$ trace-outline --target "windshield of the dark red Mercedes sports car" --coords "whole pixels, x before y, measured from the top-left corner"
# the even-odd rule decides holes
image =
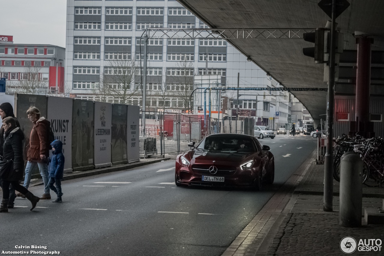
[[[255,143],[248,138],[207,137],[197,146],[198,150],[256,151]]]

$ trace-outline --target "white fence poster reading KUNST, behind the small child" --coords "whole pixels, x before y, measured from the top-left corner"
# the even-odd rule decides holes
[[[51,123],[55,140],[63,143],[64,173],[72,172],[72,107],[73,99],[71,98],[48,97],[46,118]]]

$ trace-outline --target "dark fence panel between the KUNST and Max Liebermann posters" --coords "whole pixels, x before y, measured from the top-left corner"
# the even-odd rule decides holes
[[[93,164],[93,118],[94,102],[73,101],[72,112],[72,167],[73,171],[94,169]]]

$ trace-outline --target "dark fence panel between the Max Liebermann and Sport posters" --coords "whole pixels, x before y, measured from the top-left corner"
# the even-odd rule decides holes
[[[112,106],[112,163],[126,164],[127,161],[127,105]]]

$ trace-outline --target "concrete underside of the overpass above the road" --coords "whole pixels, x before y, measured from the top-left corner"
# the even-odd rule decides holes
[[[317,28],[331,20],[318,7],[320,0],[177,0],[211,28]],[[351,4],[337,19],[344,33],[344,50],[356,50],[355,31],[374,38],[372,51],[384,50],[384,1],[348,0]],[[323,82],[324,64],[303,55],[302,48],[313,47],[303,39],[230,39],[230,43],[252,58],[260,68],[286,87],[327,88]],[[353,53],[353,52],[352,52]],[[353,54],[352,54],[353,55]],[[372,58],[374,53],[372,53]],[[356,57],[352,57],[356,58]],[[371,79],[371,96],[384,95],[384,72],[381,58],[376,80]],[[343,64],[341,63],[341,66]],[[356,66],[356,65],[355,65]],[[336,84],[338,95],[353,95],[354,64],[345,65],[347,73]],[[374,65],[372,65],[374,67]],[[342,72],[342,71],[340,71]],[[348,75],[347,75],[348,76]],[[355,76],[356,77],[356,76]],[[383,80],[382,80],[383,79]],[[293,92],[314,119],[326,114],[326,92]],[[314,97],[315,96],[315,97]],[[324,116],[323,116],[324,117]]]

